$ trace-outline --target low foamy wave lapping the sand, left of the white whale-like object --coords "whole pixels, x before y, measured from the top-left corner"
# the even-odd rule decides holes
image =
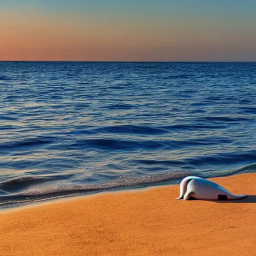
[[[71,196],[116,188],[139,187],[141,185],[148,185],[163,181],[180,180],[184,176],[190,174],[191,172],[178,171],[146,176],[123,176],[103,183],[65,185],[56,182],[52,185],[45,185],[45,182],[55,179],[52,177],[20,177],[0,182],[0,191],[3,191],[3,194],[0,196],[0,205],[4,206],[6,204],[33,202],[44,200],[46,198],[53,199],[58,198],[59,196]],[[44,185],[38,186],[41,183]],[[34,186],[34,184],[37,184],[37,186]],[[22,191],[19,192],[20,190]],[[12,193],[9,193],[9,191]]]

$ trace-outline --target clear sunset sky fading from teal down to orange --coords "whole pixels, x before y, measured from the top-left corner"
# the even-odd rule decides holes
[[[256,61],[256,0],[0,0],[0,60]]]

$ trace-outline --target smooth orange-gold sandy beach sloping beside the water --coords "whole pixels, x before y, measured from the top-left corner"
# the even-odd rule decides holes
[[[175,200],[174,185],[1,210],[0,255],[253,255],[256,173],[211,180],[251,196]]]

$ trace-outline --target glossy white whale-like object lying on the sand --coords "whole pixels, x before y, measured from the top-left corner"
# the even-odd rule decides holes
[[[247,197],[247,194],[236,195],[224,187],[204,178],[186,176],[180,182],[180,194],[176,199],[199,200],[235,200]]]

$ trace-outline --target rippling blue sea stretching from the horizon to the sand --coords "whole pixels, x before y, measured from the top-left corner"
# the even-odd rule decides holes
[[[0,205],[256,171],[256,63],[0,62]]]

